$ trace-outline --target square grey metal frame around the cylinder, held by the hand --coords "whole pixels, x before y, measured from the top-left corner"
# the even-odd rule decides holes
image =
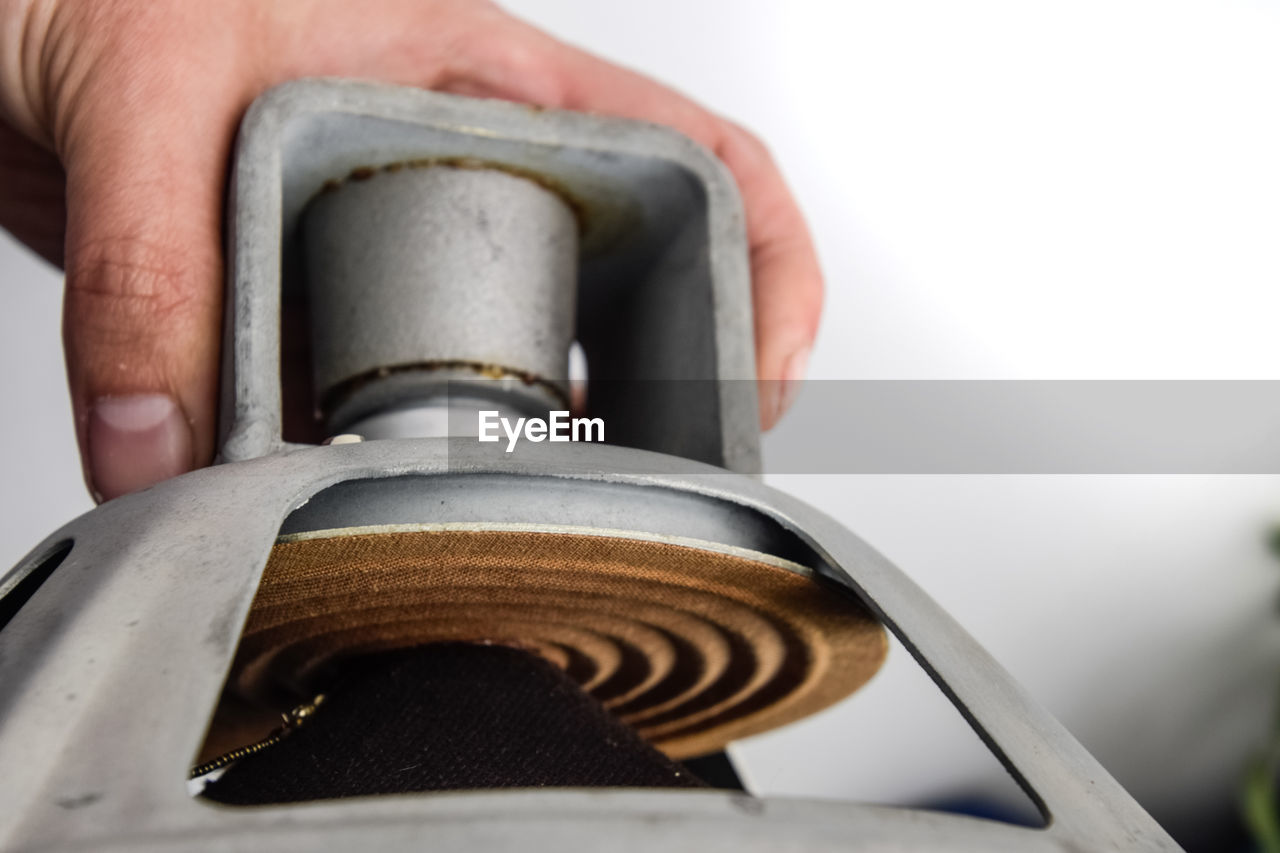
[[[593,414],[625,443],[759,471],[742,207],[709,151],[644,122],[406,87],[308,79],[250,109],[232,177],[223,461],[285,446],[282,302],[305,287],[298,216],[362,168],[468,159],[536,175],[582,224],[579,339]],[[696,380],[696,382],[685,382]],[[640,389],[641,393],[636,393]]]

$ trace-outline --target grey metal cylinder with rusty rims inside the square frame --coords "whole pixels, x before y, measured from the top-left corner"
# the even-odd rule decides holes
[[[302,240],[330,432],[467,379],[507,407],[564,407],[577,222],[554,192],[495,169],[357,170],[312,200]]]

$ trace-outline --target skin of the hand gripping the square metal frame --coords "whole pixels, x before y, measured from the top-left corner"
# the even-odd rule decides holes
[[[0,0],[0,225],[67,272],[63,339],[99,500],[207,464],[236,128],[264,90],[334,76],[667,124],[742,193],[765,428],[822,310],[804,219],[764,146],[485,0]]]

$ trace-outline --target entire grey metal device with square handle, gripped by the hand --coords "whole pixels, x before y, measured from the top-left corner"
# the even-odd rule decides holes
[[[241,131],[228,279],[220,464],[81,516],[0,581],[4,849],[1178,849],[901,571],[753,476],[742,214],[692,142],[636,122],[289,83]],[[306,306],[310,337],[282,332],[282,305]],[[507,453],[453,428],[484,406],[561,407],[575,336],[591,412],[618,425],[611,443]],[[282,392],[283,351],[308,351],[311,378]],[[596,389],[596,377],[620,384]],[[285,410],[315,410],[315,432],[343,438],[287,434]],[[612,537],[786,573],[895,633],[1047,826],[727,792],[255,808],[189,797],[276,543],[333,532]]]

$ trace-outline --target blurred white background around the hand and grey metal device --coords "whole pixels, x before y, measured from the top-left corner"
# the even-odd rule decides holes
[[[814,378],[1280,378],[1280,6],[518,0],[759,132],[828,277]],[[0,238],[0,565],[90,508],[56,273]],[[801,397],[800,405],[804,405]],[[1276,478],[791,476],[1184,838],[1280,680]],[[901,648],[735,756],[763,793],[1007,795]]]

